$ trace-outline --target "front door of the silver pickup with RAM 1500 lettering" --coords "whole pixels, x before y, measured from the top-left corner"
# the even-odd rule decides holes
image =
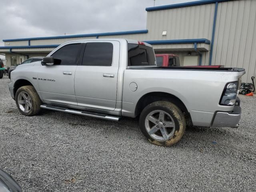
[[[81,43],[64,44],[51,54],[54,65],[40,66],[37,78],[43,100],[77,105],[74,77],[81,50]]]

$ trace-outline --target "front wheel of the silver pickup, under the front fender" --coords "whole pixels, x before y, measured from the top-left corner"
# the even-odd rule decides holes
[[[41,108],[41,100],[31,85],[18,88],[15,95],[16,106],[21,114],[26,116],[37,115]]]

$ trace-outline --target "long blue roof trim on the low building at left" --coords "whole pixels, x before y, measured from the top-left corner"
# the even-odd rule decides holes
[[[148,33],[148,30],[146,29],[146,30],[136,30],[136,31],[120,31],[120,32],[92,33],[92,34],[80,34],[80,35],[34,37],[34,38],[22,38],[22,39],[4,39],[3,42],[45,40],[45,39],[64,39],[64,38],[94,37],[94,36],[108,36],[108,35],[128,35],[128,34],[141,34],[141,33]]]

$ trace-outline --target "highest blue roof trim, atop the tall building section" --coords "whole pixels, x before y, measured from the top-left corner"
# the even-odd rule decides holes
[[[164,5],[164,6],[157,6],[157,7],[147,7],[146,11],[155,11],[155,10],[164,10],[164,9],[173,9],[179,7],[187,7],[187,6],[194,6],[194,5],[204,5],[209,3],[216,3],[216,2],[224,2],[230,0],[201,0],[201,1],[192,1],[186,3],[178,3],[172,5]]]

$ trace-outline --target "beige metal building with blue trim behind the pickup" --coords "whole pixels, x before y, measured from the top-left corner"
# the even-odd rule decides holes
[[[146,8],[146,30],[6,39],[0,47],[7,65],[46,56],[66,41],[131,38],[174,53],[181,65],[224,65],[246,69],[243,82],[256,75],[256,0],[201,0]]]

